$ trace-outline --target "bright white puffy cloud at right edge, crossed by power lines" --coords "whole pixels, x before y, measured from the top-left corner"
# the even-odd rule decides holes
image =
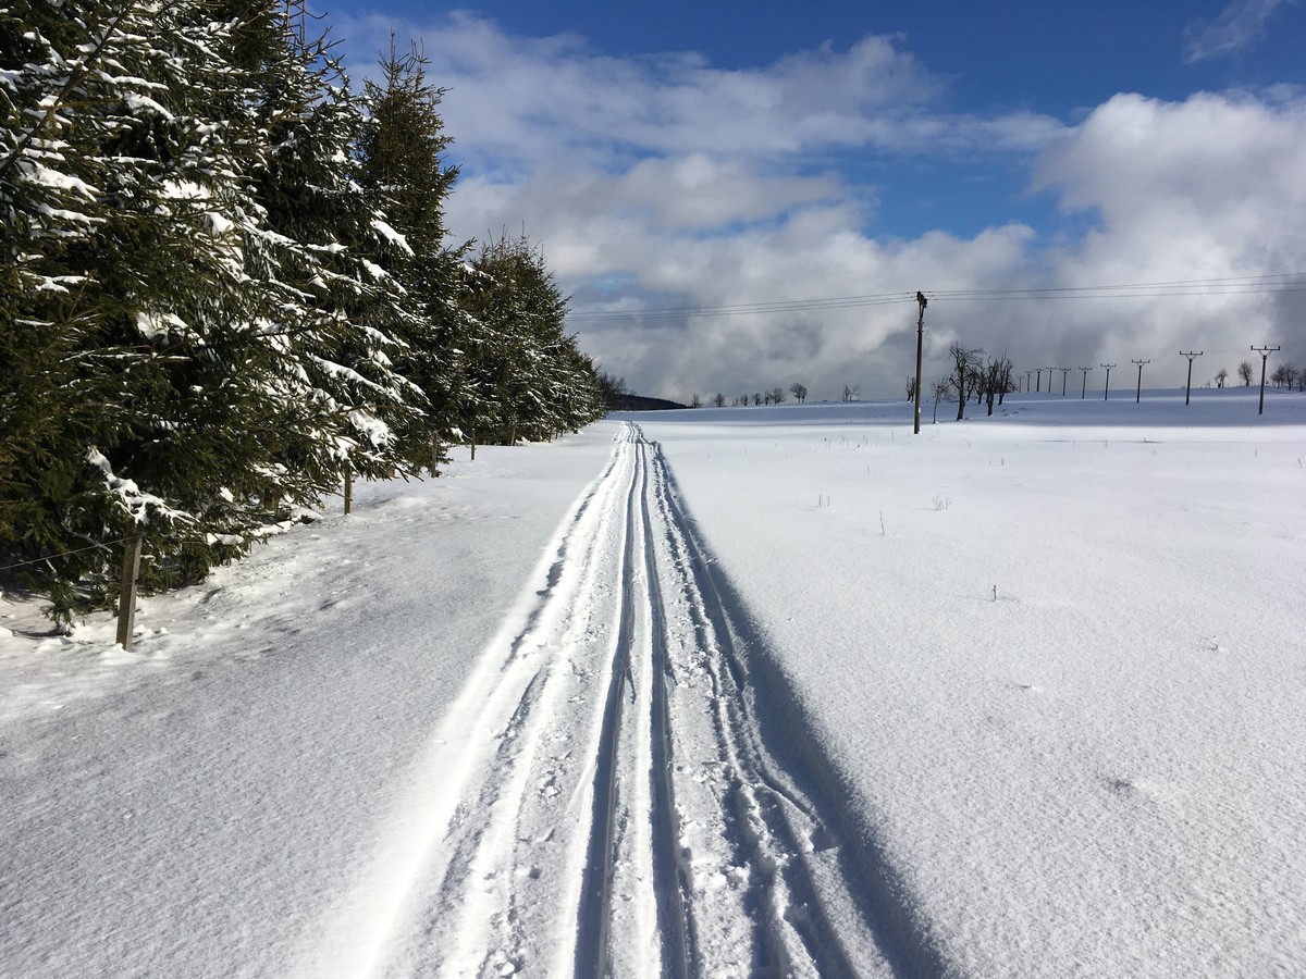
[[[1064,285],[1306,270],[1306,101],[1117,95],[1037,172],[1067,209],[1101,215],[1098,230],[1054,261]],[[1243,338],[1293,330],[1301,341],[1301,326],[1276,321],[1256,295],[1157,298],[1104,324],[1106,337],[1144,350],[1235,350]]]

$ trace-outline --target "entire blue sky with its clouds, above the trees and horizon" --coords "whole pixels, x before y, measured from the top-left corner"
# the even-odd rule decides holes
[[[1306,362],[1284,279],[963,298],[1306,270],[1303,4],[323,10],[355,76],[390,30],[422,42],[456,234],[541,241],[582,346],[636,390],[892,396],[914,303],[815,300],[917,288],[927,371],[952,341],[1017,367],[1151,356],[1158,385],[1182,382],[1181,349],[1209,349],[1205,376],[1250,343]]]

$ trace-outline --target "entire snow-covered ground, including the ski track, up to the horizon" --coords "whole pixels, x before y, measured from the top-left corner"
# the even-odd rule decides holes
[[[929,407],[482,449],[132,653],[0,602],[0,974],[1306,974],[1306,398]]]

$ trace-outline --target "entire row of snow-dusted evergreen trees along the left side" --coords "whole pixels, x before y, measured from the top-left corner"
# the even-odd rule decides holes
[[[453,245],[441,91],[281,0],[0,8],[0,564],[56,619],[202,578],[346,473],[602,412],[525,239]],[[296,27],[299,30],[296,30]]]

